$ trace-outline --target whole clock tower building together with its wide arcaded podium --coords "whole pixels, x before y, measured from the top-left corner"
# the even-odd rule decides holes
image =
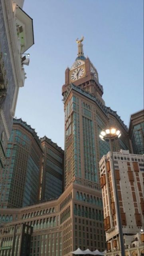
[[[99,139],[99,133],[114,125],[122,132],[120,140],[113,143],[114,151],[120,148],[128,150],[130,146],[124,122],[116,111],[105,106],[103,86],[99,83],[95,66],[83,54],[82,41],[83,38],[77,40],[78,56],[72,67],[66,69],[62,87],[65,112],[64,192],[58,199],[49,199],[41,204],[2,209],[2,218],[11,216],[11,222],[3,224],[0,231],[3,250],[6,250],[4,246],[9,238],[21,237],[20,230],[18,234],[10,233],[19,224],[32,227],[30,256],[72,256],[71,252],[78,247],[100,251],[106,248],[99,160],[107,154],[109,145]],[[41,140],[42,146],[46,147],[43,147],[46,162],[52,160],[47,151],[48,142],[45,137]],[[44,166],[46,170],[48,166],[43,162]],[[54,174],[53,170],[51,174]],[[45,171],[43,175],[45,177],[41,180],[47,177]],[[43,185],[41,198],[47,196],[47,188]],[[19,248],[20,255],[21,240],[13,246]],[[11,245],[8,250],[12,251]]]

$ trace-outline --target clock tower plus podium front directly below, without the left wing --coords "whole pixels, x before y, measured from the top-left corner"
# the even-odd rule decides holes
[[[109,145],[100,140],[99,134],[106,127],[118,128],[122,136],[113,144],[117,152],[120,148],[128,149],[129,142],[124,122],[116,111],[105,106],[98,72],[83,53],[83,39],[76,40],[77,58],[71,68],[65,70],[65,84],[62,87],[65,112],[63,195],[72,194],[72,250],[89,247],[92,251],[96,248],[104,251],[99,161],[109,151]],[[69,252],[69,249],[63,250],[64,255]]]

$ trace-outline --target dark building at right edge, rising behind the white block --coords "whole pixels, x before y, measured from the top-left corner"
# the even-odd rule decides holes
[[[144,154],[144,110],[130,116],[129,134],[134,154]]]

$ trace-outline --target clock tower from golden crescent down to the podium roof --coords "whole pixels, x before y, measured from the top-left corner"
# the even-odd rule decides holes
[[[82,38],[83,40],[83,38]],[[129,148],[128,130],[116,111],[105,106],[103,86],[95,66],[83,54],[77,40],[78,56],[65,71],[62,88],[65,111],[65,188],[71,182],[99,183],[99,160],[109,145],[99,139],[103,128],[115,126],[122,132],[114,143],[116,151]]]

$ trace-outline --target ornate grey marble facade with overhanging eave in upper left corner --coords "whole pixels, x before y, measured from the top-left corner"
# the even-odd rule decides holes
[[[22,54],[34,44],[32,19],[22,10],[23,2],[0,0],[0,170],[4,166],[18,91],[26,78]]]

